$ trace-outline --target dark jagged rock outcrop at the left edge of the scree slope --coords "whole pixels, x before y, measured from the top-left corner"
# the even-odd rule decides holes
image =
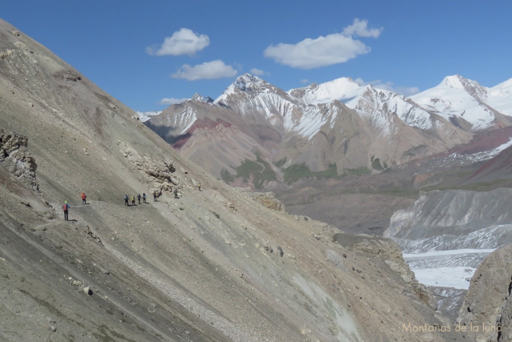
[[[26,136],[0,129],[0,163],[30,189],[39,191],[35,177],[37,164],[28,150]]]

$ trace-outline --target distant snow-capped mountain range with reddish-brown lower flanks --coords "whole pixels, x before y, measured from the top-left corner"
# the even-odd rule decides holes
[[[459,75],[407,98],[350,78],[284,91],[243,74],[217,99],[196,94],[145,124],[216,177],[275,189],[447,152],[510,126],[511,94],[512,79],[485,88]]]

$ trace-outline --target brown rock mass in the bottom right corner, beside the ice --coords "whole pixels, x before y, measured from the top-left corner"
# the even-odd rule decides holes
[[[512,340],[512,245],[487,256],[471,279],[458,323],[474,341]]]

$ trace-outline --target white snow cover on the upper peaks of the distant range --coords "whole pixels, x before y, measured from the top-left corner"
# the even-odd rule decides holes
[[[512,78],[493,88],[485,88],[460,75],[447,76],[438,86],[407,98],[389,90],[359,86],[348,77],[285,92],[245,73],[215,100],[197,93],[190,100],[232,106],[242,116],[247,112],[259,112],[265,119],[272,120],[274,126],[284,120],[287,132],[297,132],[308,138],[312,138],[312,132],[318,132],[326,120],[318,105],[334,100],[356,110],[361,117],[369,119],[373,127],[386,134],[393,132],[389,115],[396,115],[406,125],[420,130],[442,129],[444,124],[432,113],[446,120],[458,116],[470,123],[473,130],[479,130],[494,124],[496,112],[512,116]],[[311,105],[318,110],[316,117],[308,107]],[[289,117],[302,111],[308,112],[304,119]],[[137,112],[143,122],[159,113]],[[317,129],[305,129],[306,126]]]

